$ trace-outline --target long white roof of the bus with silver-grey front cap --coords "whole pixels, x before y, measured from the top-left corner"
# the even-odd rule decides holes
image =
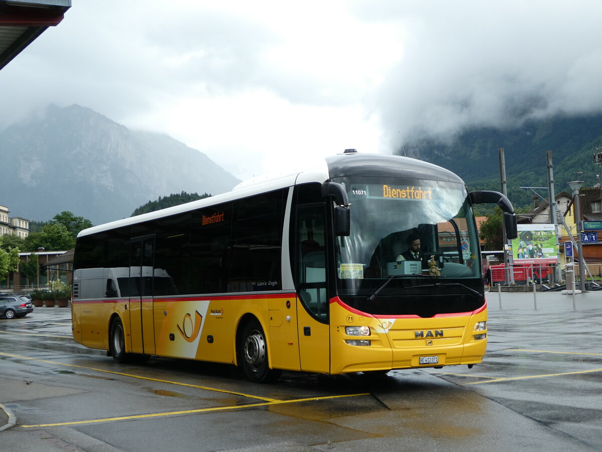
[[[440,180],[464,184],[461,178],[441,166],[422,160],[402,157],[400,155],[364,154],[359,152],[344,152],[332,155],[325,160],[310,162],[305,169],[294,169],[274,174],[267,174],[243,181],[231,192],[187,202],[179,206],[143,213],[142,215],[120,219],[110,223],[93,226],[82,230],[78,237],[95,234],[123,226],[150,221],[178,213],[202,209],[234,199],[246,198],[259,193],[270,192],[285,187],[308,182],[324,183],[330,178],[342,176],[374,176],[374,177],[403,177],[423,178],[427,174],[431,180]]]

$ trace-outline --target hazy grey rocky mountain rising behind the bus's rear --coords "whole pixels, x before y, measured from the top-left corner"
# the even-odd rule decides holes
[[[240,181],[165,135],[132,131],[90,108],[48,107],[0,132],[0,204],[46,221],[69,210],[93,224],[169,193],[227,192]]]

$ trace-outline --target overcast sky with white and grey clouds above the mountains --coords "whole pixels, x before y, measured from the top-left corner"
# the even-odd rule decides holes
[[[239,178],[412,135],[602,110],[602,2],[72,0],[0,71],[46,104],[167,133]]]

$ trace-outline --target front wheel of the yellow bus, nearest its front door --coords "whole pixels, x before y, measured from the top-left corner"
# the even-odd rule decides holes
[[[244,375],[255,383],[270,383],[278,380],[282,373],[270,369],[267,357],[267,343],[261,324],[253,320],[244,325],[238,356]]]

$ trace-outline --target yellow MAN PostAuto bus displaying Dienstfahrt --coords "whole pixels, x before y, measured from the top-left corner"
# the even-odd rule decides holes
[[[88,228],[75,246],[73,337],[117,362],[231,363],[256,382],[283,370],[471,367],[487,337],[472,207],[482,202],[497,203],[516,234],[501,193],[348,149]]]

